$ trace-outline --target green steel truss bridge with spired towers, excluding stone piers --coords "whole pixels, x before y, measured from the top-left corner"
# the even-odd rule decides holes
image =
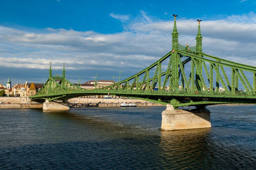
[[[172,104],[175,108],[256,103],[256,67],[202,52],[200,20],[195,46],[180,45],[178,37],[174,17],[172,50],[139,73],[104,88],[86,90],[74,85],[65,78],[65,66],[62,76],[52,76],[50,64],[44,87],[30,98],[67,101],[79,96],[111,95]]]

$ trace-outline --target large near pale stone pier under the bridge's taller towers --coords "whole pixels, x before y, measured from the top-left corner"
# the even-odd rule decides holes
[[[196,110],[175,110],[171,104],[162,112],[162,131],[198,129],[211,127],[210,111],[204,108]]]

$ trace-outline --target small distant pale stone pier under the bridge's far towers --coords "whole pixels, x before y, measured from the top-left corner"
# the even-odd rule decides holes
[[[54,111],[54,110],[69,110],[68,102],[54,102],[45,101],[43,110],[44,111]]]

